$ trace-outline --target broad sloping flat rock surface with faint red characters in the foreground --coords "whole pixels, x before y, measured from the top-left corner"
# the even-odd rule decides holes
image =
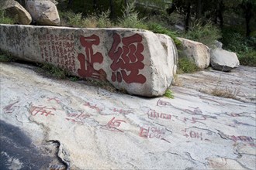
[[[0,66],[1,169],[256,169],[254,100],[200,92],[201,73],[180,76],[185,87],[171,87],[175,99],[168,99],[54,80],[24,64]],[[255,94],[255,68],[240,68],[221,73],[222,83],[245,73],[237,87]],[[213,72],[202,73],[215,79]]]

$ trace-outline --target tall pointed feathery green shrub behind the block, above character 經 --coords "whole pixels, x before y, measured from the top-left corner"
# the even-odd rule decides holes
[[[135,10],[135,2],[126,5],[123,17],[118,19],[117,25],[124,28],[147,29],[144,19],[139,19],[139,13]]]

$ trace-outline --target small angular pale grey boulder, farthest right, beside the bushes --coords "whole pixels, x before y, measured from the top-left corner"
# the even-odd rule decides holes
[[[210,63],[214,70],[221,71],[230,71],[240,65],[237,54],[224,49],[212,49]]]

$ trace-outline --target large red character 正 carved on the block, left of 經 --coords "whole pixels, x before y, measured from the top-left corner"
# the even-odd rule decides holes
[[[99,36],[80,36],[81,46],[85,47],[85,54],[79,53],[78,60],[80,62],[80,68],[78,69],[78,75],[82,77],[92,77],[96,79],[105,79],[106,73],[104,70],[95,70],[93,68],[94,63],[102,63],[103,56],[101,53],[93,53],[92,46],[99,45]]]

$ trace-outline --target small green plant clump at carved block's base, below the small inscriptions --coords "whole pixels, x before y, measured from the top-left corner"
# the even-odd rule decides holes
[[[43,70],[43,72],[47,74],[47,76],[52,76],[57,79],[64,79],[68,75],[68,73],[65,70],[57,66],[54,66],[50,63],[44,63],[40,65],[40,67]]]

